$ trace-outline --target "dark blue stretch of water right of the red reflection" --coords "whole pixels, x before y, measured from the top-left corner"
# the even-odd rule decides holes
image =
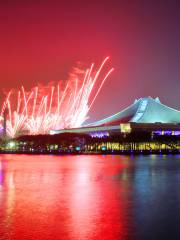
[[[135,170],[132,201],[137,239],[180,239],[179,156],[146,156],[136,161]]]

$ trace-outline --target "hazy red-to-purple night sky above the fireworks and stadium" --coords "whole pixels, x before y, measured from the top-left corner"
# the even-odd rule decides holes
[[[0,83],[30,88],[66,79],[77,61],[111,57],[115,71],[90,113],[99,119],[135,98],[180,109],[178,1],[1,1]]]

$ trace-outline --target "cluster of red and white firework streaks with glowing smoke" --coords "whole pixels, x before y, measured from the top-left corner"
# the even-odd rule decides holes
[[[103,84],[113,71],[111,68],[103,74],[108,59],[105,58],[96,71],[94,64],[86,71],[74,69],[68,81],[60,81],[57,85],[37,86],[30,92],[25,91],[24,87],[17,93],[10,91],[2,105],[1,126],[5,111],[6,130],[10,137],[46,134],[51,129],[82,126]]]

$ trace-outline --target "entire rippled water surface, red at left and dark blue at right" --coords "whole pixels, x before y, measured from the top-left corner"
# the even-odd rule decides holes
[[[0,240],[180,239],[180,155],[0,155]]]

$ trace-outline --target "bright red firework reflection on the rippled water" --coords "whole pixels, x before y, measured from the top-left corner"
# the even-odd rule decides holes
[[[1,236],[14,240],[128,236],[125,159],[8,155],[0,163]]]

